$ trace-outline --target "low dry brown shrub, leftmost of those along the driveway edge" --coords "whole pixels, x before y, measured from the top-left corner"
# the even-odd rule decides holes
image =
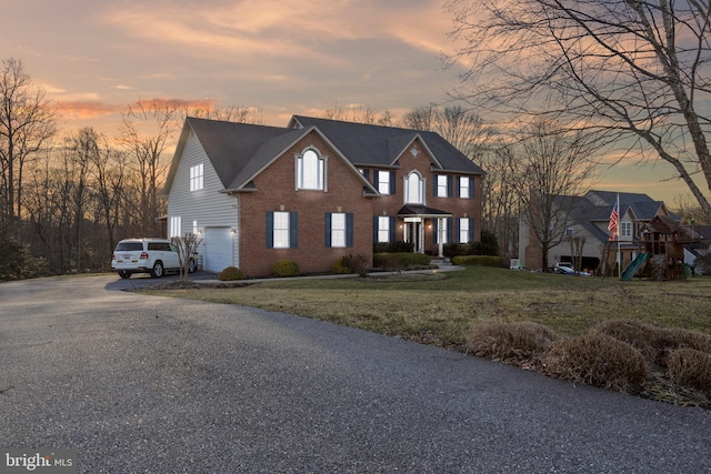
[[[542,324],[489,322],[473,329],[467,349],[480,357],[522,364],[541,355],[557,340],[558,334]]]

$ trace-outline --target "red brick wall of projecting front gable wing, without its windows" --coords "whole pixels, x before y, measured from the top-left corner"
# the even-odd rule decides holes
[[[327,191],[296,190],[294,155],[313,147],[328,157]],[[372,265],[372,202],[363,198],[363,183],[343,159],[316,132],[300,140],[254,179],[256,192],[240,193],[242,270],[268,275],[279,259],[291,259],[303,273],[328,272],[344,255],[365,255]],[[267,212],[297,212],[297,249],[268,249]],[[353,213],[353,246],[331,249],[324,245],[327,212]]]

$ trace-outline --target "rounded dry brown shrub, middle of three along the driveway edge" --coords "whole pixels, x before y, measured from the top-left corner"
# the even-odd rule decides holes
[[[554,377],[620,392],[641,386],[649,376],[637,349],[602,333],[554,342],[541,362]]]

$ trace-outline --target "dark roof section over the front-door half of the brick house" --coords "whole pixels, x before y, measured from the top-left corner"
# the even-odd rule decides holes
[[[397,164],[394,160],[419,138],[433,157],[434,169],[465,174],[484,174],[481,168],[434,132],[302,115],[294,115],[289,127],[293,129],[317,127],[356,167],[392,167]]]

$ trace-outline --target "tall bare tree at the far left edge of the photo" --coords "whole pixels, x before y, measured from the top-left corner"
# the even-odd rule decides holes
[[[20,229],[26,164],[57,132],[56,113],[22,61],[2,61],[0,71],[0,223]]]

